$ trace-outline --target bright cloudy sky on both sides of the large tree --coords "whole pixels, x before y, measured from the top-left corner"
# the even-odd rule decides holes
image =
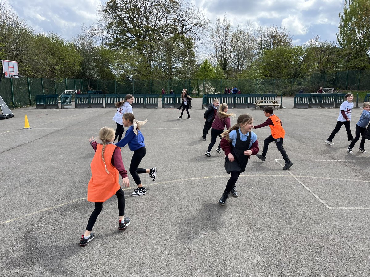
[[[54,32],[70,39],[81,25],[96,22],[96,11],[105,0],[8,0],[19,17],[36,32]],[[258,25],[278,25],[303,44],[316,35],[336,41],[339,13],[344,0],[192,0],[211,21],[226,14],[233,24],[246,21]]]

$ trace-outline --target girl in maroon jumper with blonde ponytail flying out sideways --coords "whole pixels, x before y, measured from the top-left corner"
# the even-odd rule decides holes
[[[230,129],[230,117],[234,117],[235,113],[226,113],[228,111],[228,104],[222,103],[218,112],[216,113],[215,120],[212,123],[211,129],[211,142],[208,145],[208,149],[205,153],[206,156],[211,157],[211,149],[216,143],[216,139],[219,136],[221,139],[221,134],[223,129]],[[221,154],[221,144],[218,144],[216,152]]]

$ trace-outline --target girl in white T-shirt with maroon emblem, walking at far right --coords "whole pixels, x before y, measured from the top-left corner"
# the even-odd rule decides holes
[[[342,105],[340,105],[340,112],[339,112],[339,116],[337,119],[337,124],[334,130],[332,131],[332,133],[330,134],[330,136],[325,141],[326,144],[334,145],[333,138],[335,134],[339,132],[342,125],[346,127],[348,141],[353,140],[353,136],[352,136],[351,129],[350,129],[351,110],[353,109],[353,103],[352,103],[353,95],[352,93],[347,93],[344,96],[344,98],[346,99],[346,101],[344,101]]]

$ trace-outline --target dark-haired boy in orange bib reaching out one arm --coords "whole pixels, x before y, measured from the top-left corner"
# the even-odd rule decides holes
[[[265,140],[263,141],[263,150],[262,155],[257,154],[256,157],[258,157],[260,160],[265,161],[266,160],[266,154],[267,150],[269,148],[269,143],[275,141],[277,150],[280,151],[280,153],[283,156],[283,159],[285,161],[285,165],[283,167],[283,170],[288,170],[292,165],[292,161],[289,160],[288,155],[285,152],[285,149],[283,148],[283,138],[285,136],[285,131],[282,126],[282,122],[280,121],[279,117],[277,117],[274,114],[274,109],[272,106],[267,106],[263,108],[263,113],[266,117],[268,117],[268,120],[266,120],[264,123],[259,124],[257,126],[254,126],[254,129],[262,128],[265,126],[270,126],[271,134]]]

